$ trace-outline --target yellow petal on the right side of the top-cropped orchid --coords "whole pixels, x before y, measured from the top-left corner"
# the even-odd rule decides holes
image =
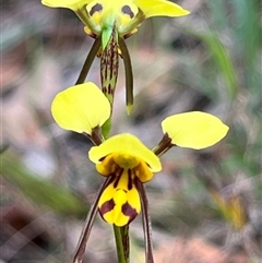
[[[180,5],[166,0],[134,0],[133,3],[143,11],[146,17],[182,16],[190,13]]]

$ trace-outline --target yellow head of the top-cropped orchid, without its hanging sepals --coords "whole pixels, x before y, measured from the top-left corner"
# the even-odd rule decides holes
[[[86,25],[88,35],[105,35],[104,47],[115,24],[119,36],[127,37],[135,33],[145,19],[189,14],[180,5],[166,0],[41,0],[41,3],[50,8],[73,10]]]

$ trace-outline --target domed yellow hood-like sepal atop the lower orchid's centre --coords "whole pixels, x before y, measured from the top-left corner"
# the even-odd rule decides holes
[[[148,169],[153,172],[157,172],[162,169],[159,158],[138,138],[129,133],[111,136],[99,146],[93,146],[88,155],[93,163],[99,164],[103,157],[112,153],[142,159],[148,165]]]

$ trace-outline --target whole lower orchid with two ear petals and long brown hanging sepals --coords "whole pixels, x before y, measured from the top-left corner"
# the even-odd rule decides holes
[[[105,222],[116,226],[127,226],[142,211],[146,256],[153,259],[148,205],[143,184],[162,170],[159,156],[169,148],[201,150],[212,146],[227,134],[228,127],[215,116],[192,111],[167,117],[162,122],[164,136],[153,150],[130,133],[105,140],[100,127],[110,116],[110,104],[93,83],[75,85],[59,93],[52,101],[51,112],[61,128],[84,133],[94,142],[88,157],[98,174],[106,177],[90,211],[74,262],[82,262],[97,211]]]

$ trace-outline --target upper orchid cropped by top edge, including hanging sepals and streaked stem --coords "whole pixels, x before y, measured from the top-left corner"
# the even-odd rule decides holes
[[[85,25],[85,33],[95,38],[76,84],[85,81],[98,55],[102,58],[103,92],[111,105],[118,75],[118,55],[121,55],[126,72],[128,113],[133,105],[133,73],[124,39],[133,35],[144,20],[152,16],[176,17],[189,14],[189,11],[167,0],[41,0],[41,3],[50,8],[71,9]]]

